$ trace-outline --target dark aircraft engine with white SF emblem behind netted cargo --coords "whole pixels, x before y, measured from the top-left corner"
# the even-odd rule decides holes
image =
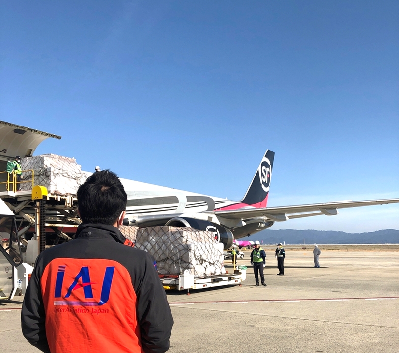
[[[223,247],[225,250],[231,248],[233,245],[233,233],[225,227],[209,221],[203,221],[188,217],[175,217],[169,220],[165,224],[165,226],[186,227],[197,230],[210,231],[213,232],[217,241],[223,243]]]

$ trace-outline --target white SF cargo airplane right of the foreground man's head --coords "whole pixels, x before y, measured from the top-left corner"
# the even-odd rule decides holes
[[[234,239],[267,229],[275,222],[316,215],[332,216],[338,209],[398,203],[399,199],[342,201],[267,207],[274,152],[267,150],[244,198],[232,201],[139,181],[120,179],[128,201],[123,224],[140,228],[187,227],[213,232],[224,249]]]

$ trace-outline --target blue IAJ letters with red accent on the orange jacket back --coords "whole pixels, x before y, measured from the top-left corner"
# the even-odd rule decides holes
[[[66,266],[58,266],[57,279],[56,279],[56,289],[54,293],[55,298],[61,298],[62,296],[62,286],[64,282]],[[54,301],[54,305],[82,305],[82,306],[99,306],[104,305],[110,299],[110,291],[112,279],[114,277],[115,267],[107,267],[105,269],[105,274],[103,278],[103,284],[101,288],[101,295],[99,302],[77,302],[77,301]],[[93,299],[93,290],[91,288],[92,284],[98,284],[95,282],[91,282],[90,274],[88,271],[88,266],[84,266],[80,269],[79,273],[76,275],[74,281],[69,286],[64,299],[69,298],[72,291],[79,290],[83,288],[83,293],[85,295],[85,299]]]

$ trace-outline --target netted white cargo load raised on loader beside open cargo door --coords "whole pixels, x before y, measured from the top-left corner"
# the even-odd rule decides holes
[[[22,158],[22,170],[34,171],[34,185],[44,186],[52,194],[75,195],[78,187],[83,184],[87,174],[82,173],[81,165],[75,158],[63,157],[57,154],[42,154]],[[23,180],[31,180],[32,173],[24,172]],[[31,190],[30,183],[21,184],[21,191]]]

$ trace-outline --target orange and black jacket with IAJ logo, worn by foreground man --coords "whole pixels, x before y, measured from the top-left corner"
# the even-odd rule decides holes
[[[42,252],[22,306],[22,332],[43,352],[166,352],[171,310],[154,258],[113,226],[81,224]]]

